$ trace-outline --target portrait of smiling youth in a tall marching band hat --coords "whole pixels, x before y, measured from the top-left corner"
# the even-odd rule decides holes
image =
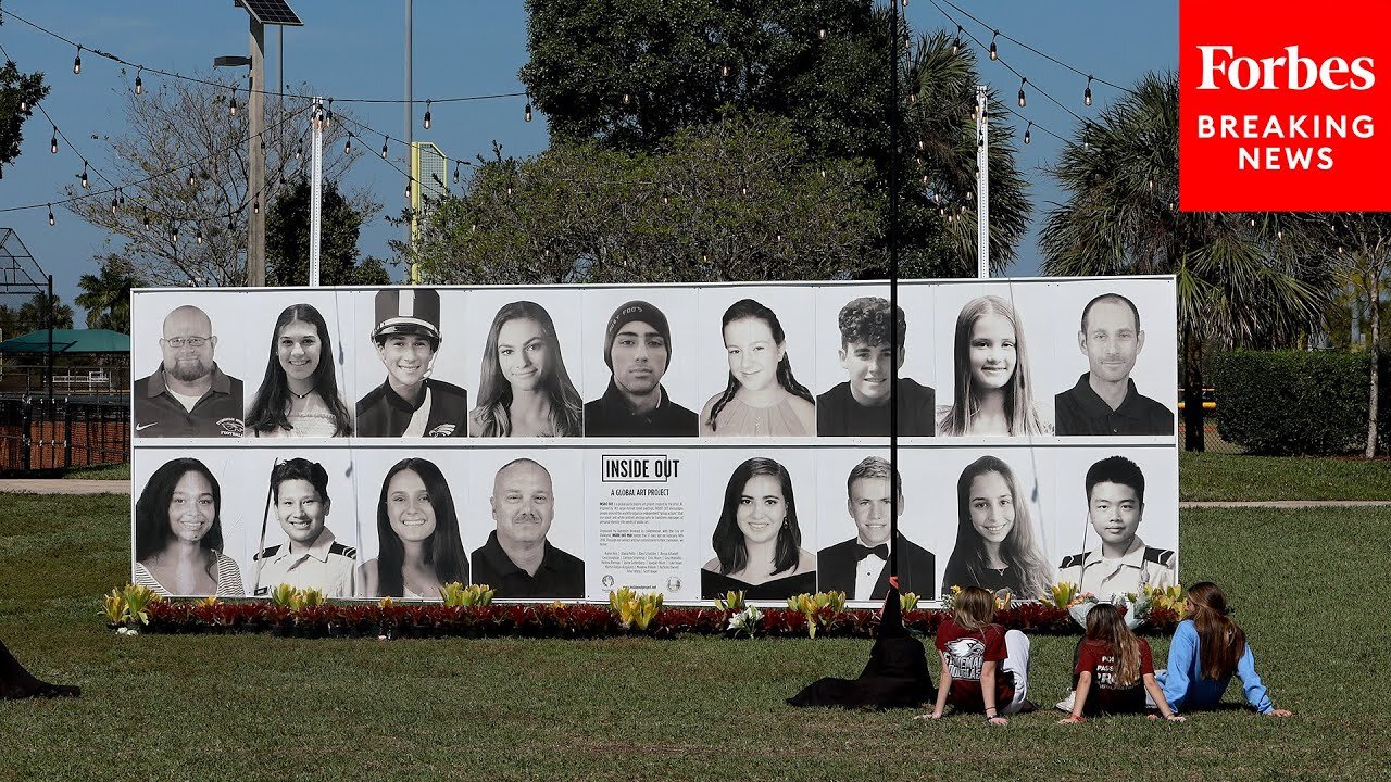
[[[371,341],[387,380],[357,399],[362,437],[465,437],[469,394],[430,377],[440,351],[440,292],[377,291]]]

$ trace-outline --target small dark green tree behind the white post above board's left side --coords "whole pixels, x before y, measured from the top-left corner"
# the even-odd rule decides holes
[[[309,179],[299,177],[277,193],[266,216],[266,284],[309,284]],[[363,221],[380,205],[366,198],[352,203],[327,181],[320,203],[319,281],[321,285],[389,285],[391,274],[381,260],[357,263],[357,235]]]

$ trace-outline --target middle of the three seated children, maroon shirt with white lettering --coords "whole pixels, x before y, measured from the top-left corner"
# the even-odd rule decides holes
[[[1072,712],[1059,722],[1068,725],[1097,714],[1143,714],[1145,693],[1170,722],[1182,722],[1164,700],[1155,680],[1155,660],[1145,639],[1136,637],[1118,608],[1102,603],[1086,615],[1086,640],[1079,648],[1077,697]]]

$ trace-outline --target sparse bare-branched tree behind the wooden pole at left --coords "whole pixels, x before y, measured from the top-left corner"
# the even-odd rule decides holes
[[[246,111],[231,115],[235,82],[220,83],[224,86],[164,79],[159,89],[129,93],[124,109],[129,131],[103,138],[111,160],[102,171],[111,182],[97,179],[93,186],[129,185],[118,195],[68,205],[88,223],[124,239],[110,255],[150,284],[245,284],[248,213],[266,207],[284,182],[303,177],[309,168],[307,102],[287,97],[281,103],[267,96],[262,135],[266,192],[248,192]],[[238,100],[246,103],[245,88]],[[338,114],[339,121],[324,134],[324,177],[330,179],[339,178],[362,154],[344,154],[348,122]],[[88,193],[70,186],[68,195]]]

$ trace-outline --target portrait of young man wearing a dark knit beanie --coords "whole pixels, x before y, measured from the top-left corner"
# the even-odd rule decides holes
[[[672,402],[662,376],[672,360],[666,314],[632,301],[609,317],[604,363],[612,372],[604,395],[584,405],[587,437],[696,437],[698,416]]]

